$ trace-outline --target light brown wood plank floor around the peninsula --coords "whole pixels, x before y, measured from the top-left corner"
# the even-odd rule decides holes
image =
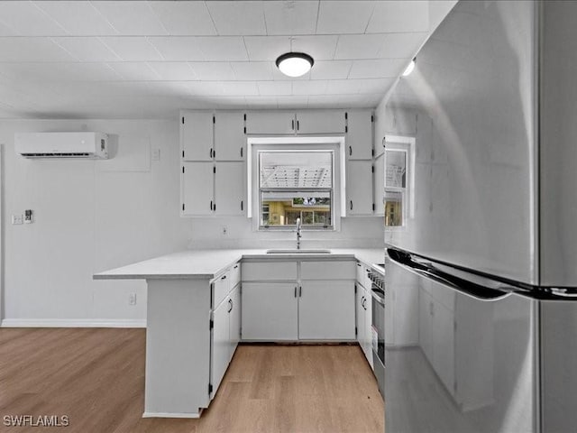
[[[357,345],[240,345],[200,419],[142,419],[143,329],[0,329],[0,431],[382,433],[384,404]],[[5,415],[68,415],[7,428]]]

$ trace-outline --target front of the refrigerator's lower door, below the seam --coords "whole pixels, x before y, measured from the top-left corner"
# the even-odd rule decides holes
[[[386,267],[387,433],[536,432],[537,301],[418,263]],[[446,269],[445,269],[446,271]],[[462,275],[461,275],[462,277]]]

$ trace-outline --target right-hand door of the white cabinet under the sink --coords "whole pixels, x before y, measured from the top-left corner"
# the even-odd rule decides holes
[[[302,281],[299,340],[354,340],[353,281]]]

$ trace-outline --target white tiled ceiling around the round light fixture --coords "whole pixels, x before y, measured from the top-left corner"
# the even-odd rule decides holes
[[[454,3],[3,1],[0,118],[376,106]]]

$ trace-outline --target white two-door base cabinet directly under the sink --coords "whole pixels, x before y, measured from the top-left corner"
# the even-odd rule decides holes
[[[350,260],[243,263],[243,340],[354,340],[354,278]]]

